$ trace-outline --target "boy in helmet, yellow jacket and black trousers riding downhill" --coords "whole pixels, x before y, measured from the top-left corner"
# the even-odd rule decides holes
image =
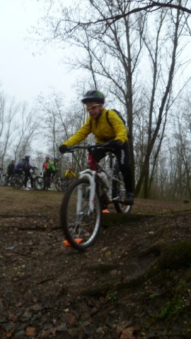
[[[117,157],[117,162],[120,167],[120,172],[124,178],[127,205],[133,205],[134,194],[132,188],[132,172],[129,164],[129,147],[127,128],[122,119],[117,115],[117,112],[110,109],[110,122],[108,122],[108,109],[103,105],[105,97],[98,90],[88,90],[85,97],[81,100],[86,105],[86,110],[89,113],[85,124],[81,126],[79,131],[76,131],[73,136],[64,141],[59,146],[59,151],[65,153],[68,146],[81,143],[88,134],[93,133],[96,137],[96,143],[107,144],[113,148],[113,153]],[[97,162],[105,157],[107,149],[94,150],[93,156]]]

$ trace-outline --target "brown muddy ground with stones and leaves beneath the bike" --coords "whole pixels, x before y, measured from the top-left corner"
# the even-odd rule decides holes
[[[191,338],[191,205],[136,199],[64,246],[62,194],[0,187],[0,338]]]

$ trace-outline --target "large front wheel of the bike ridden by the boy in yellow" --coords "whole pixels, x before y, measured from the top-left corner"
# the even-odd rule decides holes
[[[93,245],[100,233],[102,214],[100,198],[96,192],[91,211],[90,191],[88,180],[76,180],[68,187],[60,206],[60,224],[66,240],[69,245],[79,250]]]

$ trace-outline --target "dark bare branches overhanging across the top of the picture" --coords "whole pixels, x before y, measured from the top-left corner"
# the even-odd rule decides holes
[[[58,8],[58,2],[57,0],[50,0],[48,1],[49,4],[46,5],[47,13],[49,14],[53,8]],[[110,27],[110,25],[113,25],[117,21],[121,20],[122,18],[133,16],[136,13],[153,13],[154,11],[160,11],[161,8],[166,8],[168,11],[172,9],[176,9],[180,12],[182,12],[185,16],[189,16],[191,14],[191,8],[189,6],[190,0],[129,0],[125,1],[128,2],[129,6],[127,6],[125,12],[112,12],[112,13],[105,13],[103,16],[103,13],[105,11],[105,6],[103,5],[103,11],[98,13],[93,13],[92,18],[84,18],[82,16],[81,18],[81,11],[84,11],[84,8],[88,6],[88,4],[91,4],[92,6],[95,6],[96,1],[94,0],[88,0],[86,1],[86,4],[81,6],[80,2],[76,8],[72,8],[71,16],[69,16],[69,6],[64,7],[62,4],[60,4],[60,8],[62,9],[62,17],[57,20],[56,25],[52,25],[52,22],[49,20],[49,25],[51,23],[52,25],[52,37],[49,37],[50,40],[54,39],[55,37],[59,37],[60,34],[60,28],[64,25],[66,28],[67,35],[73,35],[76,30],[79,28],[85,28],[89,26],[95,26],[100,23],[104,23],[102,26],[102,34],[105,34],[106,30]],[[111,1],[107,1],[108,6],[111,6]],[[121,1],[122,4],[122,1]],[[97,6],[96,6],[97,7]],[[77,18],[77,20],[76,20]],[[190,32],[190,27],[187,25],[187,29]],[[64,35],[62,36],[62,38]]]

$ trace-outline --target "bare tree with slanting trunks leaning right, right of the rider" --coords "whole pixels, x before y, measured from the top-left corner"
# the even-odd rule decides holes
[[[171,18],[171,27],[174,27],[174,31],[170,31],[170,36],[173,38],[170,38],[170,36],[167,37],[166,35],[164,39],[163,34],[161,34],[161,29],[163,28],[163,21],[166,18],[166,13],[166,11],[161,12],[161,20],[158,22],[159,25],[156,34],[155,46],[154,44],[151,44],[151,42],[148,42],[148,37],[144,38],[146,48],[149,51],[149,58],[151,60],[153,73],[151,97],[149,98],[149,119],[147,121],[148,129],[146,135],[147,141],[144,162],[141,166],[141,172],[137,182],[137,194],[139,194],[141,191],[141,186],[143,185],[142,194],[145,198],[149,196],[151,181],[154,177],[154,167],[156,166],[156,160],[161,149],[161,144],[166,129],[168,112],[170,106],[173,105],[174,102],[173,80],[175,77],[175,66],[178,62],[178,42],[185,25],[185,21],[183,20],[182,22],[180,10],[178,10],[176,16],[172,16]],[[157,26],[157,22],[155,24]],[[160,44],[159,40],[161,40]],[[166,41],[168,41],[168,49],[166,49],[166,59],[164,59],[162,57],[161,51],[165,51],[164,49],[161,49],[161,47],[162,44],[166,43]],[[163,67],[163,62],[166,63],[165,67]],[[163,70],[165,70],[165,72]]]

